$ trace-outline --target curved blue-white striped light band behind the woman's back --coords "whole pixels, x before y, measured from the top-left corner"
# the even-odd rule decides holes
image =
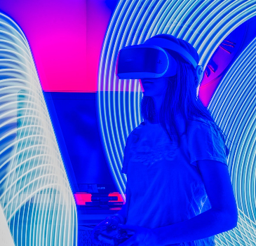
[[[228,139],[229,173],[238,226],[217,235],[218,245],[256,245],[256,38],[222,79],[208,108]]]

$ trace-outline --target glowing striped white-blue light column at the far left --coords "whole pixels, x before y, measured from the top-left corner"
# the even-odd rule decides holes
[[[76,205],[32,53],[1,13],[0,203],[15,245],[76,245]]]

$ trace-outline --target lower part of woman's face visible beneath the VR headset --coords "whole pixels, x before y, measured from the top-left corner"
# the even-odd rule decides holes
[[[143,95],[154,97],[163,95],[168,86],[168,78],[140,78],[140,87]]]

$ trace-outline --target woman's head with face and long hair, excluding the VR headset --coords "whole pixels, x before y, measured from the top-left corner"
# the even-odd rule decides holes
[[[154,37],[169,39],[182,46],[182,48],[187,50],[187,52],[194,57],[194,60],[196,60],[196,63],[198,64],[198,53],[187,41],[177,39],[175,36],[169,34],[159,34]],[[177,128],[179,123],[175,120],[175,116],[178,114],[184,118],[186,126],[189,119],[199,120],[199,118],[207,118],[214,123],[215,121],[213,120],[210,111],[203,106],[201,100],[196,96],[196,88],[198,86],[196,69],[194,69],[193,65],[184,60],[178,53],[175,53],[175,51],[168,50],[168,52],[170,52],[170,55],[172,55],[177,62],[177,74],[167,78],[144,78],[140,80],[140,83],[144,88],[144,95],[141,102],[141,114],[144,121],[154,121],[154,117],[156,116],[154,108],[154,100],[156,97],[154,97],[154,95],[156,95],[156,93],[159,95],[159,90],[162,89],[163,100],[161,102],[159,121],[163,128],[168,132],[169,136],[177,135],[180,142],[180,134]],[[143,83],[145,81],[153,81],[158,84]],[[154,90],[154,84],[156,85],[156,90]],[[168,124],[170,131],[167,130],[166,123]]]

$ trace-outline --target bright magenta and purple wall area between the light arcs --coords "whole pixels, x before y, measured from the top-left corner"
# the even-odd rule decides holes
[[[44,91],[97,91],[102,42],[114,11],[105,0],[1,0],[27,36]]]

